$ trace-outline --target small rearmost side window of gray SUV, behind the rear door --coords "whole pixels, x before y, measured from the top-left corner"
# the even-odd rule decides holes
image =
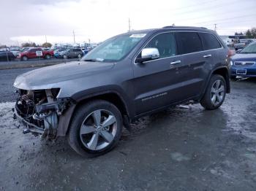
[[[200,37],[202,38],[204,50],[212,50],[222,47],[222,45],[219,44],[219,41],[213,34],[200,33]]]

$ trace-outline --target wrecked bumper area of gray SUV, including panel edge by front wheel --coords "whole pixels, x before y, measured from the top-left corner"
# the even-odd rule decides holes
[[[33,133],[46,139],[56,139],[58,136],[66,135],[69,120],[75,109],[75,104],[70,98],[56,99],[44,104],[32,103],[32,109],[26,103],[18,99],[15,109],[12,109],[14,118],[18,118],[26,125],[23,133]],[[26,111],[29,109],[33,112],[27,114]]]

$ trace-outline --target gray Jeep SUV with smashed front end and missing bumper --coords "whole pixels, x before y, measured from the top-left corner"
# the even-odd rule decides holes
[[[206,109],[221,106],[230,93],[229,57],[206,28],[121,34],[80,61],[18,76],[15,116],[26,123],[23,133],[67,136],[80,155],[101,155],[139,117],[190,100]]]

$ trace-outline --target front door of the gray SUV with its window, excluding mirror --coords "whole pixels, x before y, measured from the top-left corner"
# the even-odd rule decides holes
[[[167,106],[182,93],[179,88],[182,79],[177,72],[181,56],[177,55],[174,33],[157,34],[148,41],[146,47],[157,48],[160,58],[132,64],[136,114]]]

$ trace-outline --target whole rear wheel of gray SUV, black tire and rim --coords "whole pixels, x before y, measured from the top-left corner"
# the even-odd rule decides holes
[[[225,100],[226,90],[227,85],[224,77],[214,74],[208,83],[206,93],[203,95],[200,104],[208,110],[219,108]]]

